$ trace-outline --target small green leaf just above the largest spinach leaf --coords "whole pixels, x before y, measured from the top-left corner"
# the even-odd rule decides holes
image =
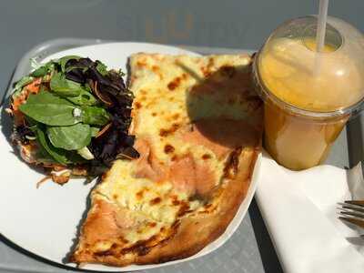
[[[80,84],[67,80],[61,73],[52,76],[50,87],[59,96],[79,96],[83,89]]]

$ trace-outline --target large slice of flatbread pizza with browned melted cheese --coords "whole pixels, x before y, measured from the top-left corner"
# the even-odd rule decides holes
[[[70,260],[113,266],[187,258],[217,239],[247,195],[261,148],[251,57],[130,57],[129,134],[91,194]]]

